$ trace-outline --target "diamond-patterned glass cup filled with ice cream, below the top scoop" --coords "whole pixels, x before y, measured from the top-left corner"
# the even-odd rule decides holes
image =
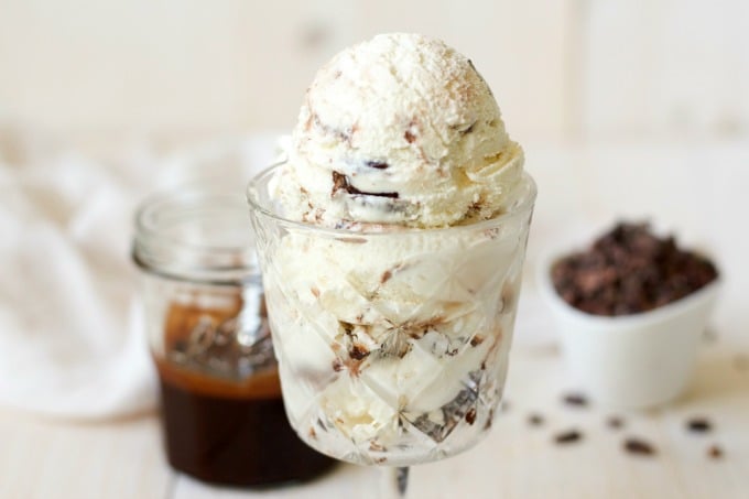
[[[476,444],[501,399],[535,187],[492,220],[361,232],[284,220],[248,196],[284,403],[298,435],[356,464]]]

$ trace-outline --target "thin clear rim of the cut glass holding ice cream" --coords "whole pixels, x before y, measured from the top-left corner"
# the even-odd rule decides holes
[[[377,237],[377,236],[392,236],[393,234],[401,234],[401,235],[425,235],[425,234],[441,234],[444,231],[449,231],[451,234],[455,234],[456,231],[459,230],[481,230],[481,229],[488,229],[491,227],[496,227],[497,225],[502,224],[506,220],[510,220],[512,218],[515,218],[522,214],[527,214],[532,211],[533,205],[535,203],[535,197],[538,194],[538,187],[535,184],[535,181],[533,177],[525,171],[522,173],[522,184],[523,188],[525,189],[525,193],[521,196],[521,198],[515,202],[509,210],[501,213],[492,218],[488,218],[486,220],[480,220],[476,221],[473,224],[467,224],[467,225],[454,225],[454,226],[447,226],[447,227],[433,227],[433,228],[421,228],[421,227],[403,227],[399,225],[380,225],[379,227],[383,227],[384,229],[380,230],[356,230],[356,229],[349,229],[349,228],[334,228],[334,227],[323,227],[318,226],[315,224],[310,224],[301,220],[293,220],[290,218],[284,218],[283,216],[274,213],[272,209],[269,209],[267,206],[264,206],[259,199],[258,199],[258,185],[269,177],[270,175],[273,174],[273,172],[278,171],[281,166],[283,166],[286,162],[281,161],[278,163],[273,163],[267,169],[262,170],[259,172],[257,175],[254,175],[249,184],[247,185],[246,188],[246,197],[247,202],[250,205],[250,208],[252,210],[256,210],[263,216],[274,219],[278,223],[281,223],[283,225],[290,226],[290,227],[296,227],[303,230],[315,230],[317,232],[323,232],[323,234],[328,234],[333,237],[356,237],[356,236],[367,236],[367,237]],[[397,230],[388,230],[388,228],[393,228]]]

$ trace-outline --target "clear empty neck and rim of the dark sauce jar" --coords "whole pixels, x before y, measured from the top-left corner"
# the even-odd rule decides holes
[[[200,215],[226,220],[231,232],[218,228],[200,235],[195,230]],[[241,226],[234,221],[240,216],[246,218]],[[252,225],[241,192],[198,182],[155,192],[135,209],[134,230],[131,258],[146,273],[213,285],[237,285],[256,273]],[[239,235],[239,241],[210,240],[226,234]]]

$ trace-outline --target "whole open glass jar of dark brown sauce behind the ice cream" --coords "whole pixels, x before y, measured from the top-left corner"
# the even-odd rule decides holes
[[[335,460],[307,447],[281,399],[245,200],[211,185],[144,202],[133,260],[161,384],[170,465],[200,480],[268,487]]]

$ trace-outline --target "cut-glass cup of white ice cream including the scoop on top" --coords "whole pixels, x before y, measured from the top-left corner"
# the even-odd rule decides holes
[[[317,74],[287,162],[250,187],[287,415],[393,466],[491,424],[535,196],[469,59],[379,35]]]

